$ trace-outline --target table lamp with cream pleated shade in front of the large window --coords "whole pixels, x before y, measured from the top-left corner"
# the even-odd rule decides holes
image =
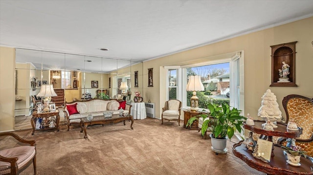
[[[193,91],[193,96],[190,98],[190,110],[199,110],[199,98],[196,91],[204,91],[204,86],[200,76],[190,76],[186,87],[187,91]]]

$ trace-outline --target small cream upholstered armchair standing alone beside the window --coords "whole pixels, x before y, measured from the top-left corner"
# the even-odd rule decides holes
[[[162,112],[162,124],[163,119],[166,119],[168,121],[170,120],[177,120],[178,125],[180,123],[180,110],[181,110],[181,101],[177,99],[171,99],[168,101],[165,101],[165,106]],[[180,125],[179,125],[180,126]]]

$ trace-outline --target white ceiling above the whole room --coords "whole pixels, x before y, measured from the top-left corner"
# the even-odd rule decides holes
[[[0,0],[0,45],[144,61],[311,16],[312,0]]]

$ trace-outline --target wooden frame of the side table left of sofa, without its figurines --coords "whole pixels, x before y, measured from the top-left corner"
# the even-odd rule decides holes
[[[42,113],[37,113],[37,111],[34,111],[32,113],[31,119],[30,119],[30,123],[31,126],[33,128],[33,132],[31,133],[31,135],[34,135],[35,133],[35,126],[36,126],[36,121],[38,118],[41,118],[41,123],[40,123],[40,129],[36,129],[36,130],[51,130],[51,129],[56,129],[57,131],[59,131],[59,122],[60,122],[60,115],[59,115],[59,110],[55,110],[55,111],[51,111],[51,112],[42,112]],[[44,118],[49,118],[51,116],[55,116],[55,127],[49,127],[49,126],[45,126],[44,124]]]

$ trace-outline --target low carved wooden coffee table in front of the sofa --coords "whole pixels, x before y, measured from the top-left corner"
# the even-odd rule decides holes
[[[125,120],[129,120],[129,121],[132,120],[131,129],[133,129],[134,119],[133,119],[133,116],[131,115],[120,116],[119,114],[114,114],[112,115],[112,117],[109,117],[109,118],[106,118],[104,116],[94,116],[91,121],[89,121],[87,117],[84,117],[80,119],[80,127],[82,128],[80,132],[82,133],[84,131],[85,133],[84,138],[87,138],[88,137],[87,127],[89,125],[102,124],[103,126],[104,124],[119,123],[121,121],[123,121],[124,125],[126,125]]]

